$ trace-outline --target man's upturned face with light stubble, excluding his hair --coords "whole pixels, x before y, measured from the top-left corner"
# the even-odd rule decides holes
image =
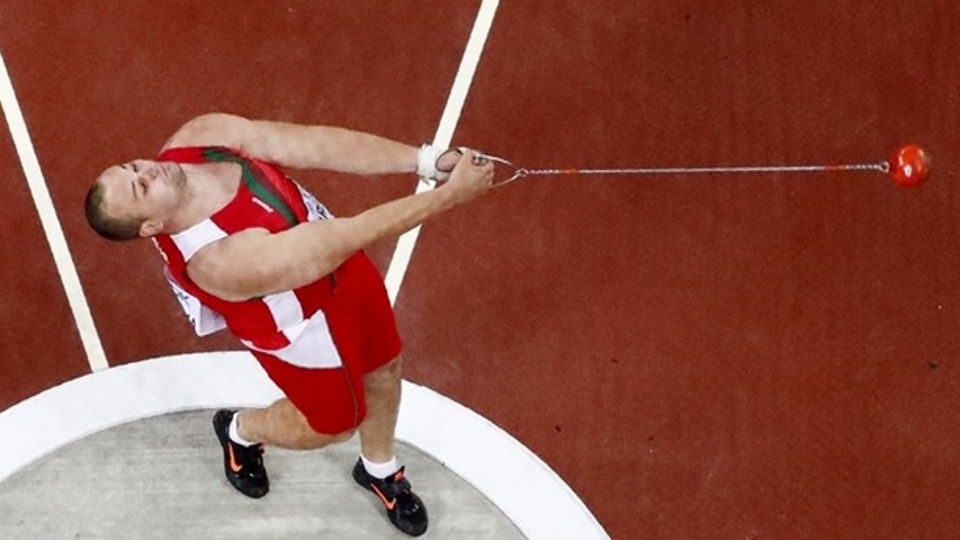
[[[97,181],[103,186],[103,209],[108,215],[144,224],[159,222],[162,227],[181,201],[185,176],[173,162],[135,160],[110,167]],[[142,236],[152,234],[141,227]]]

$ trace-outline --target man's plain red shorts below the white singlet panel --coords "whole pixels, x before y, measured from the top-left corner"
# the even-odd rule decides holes
[[[336,292],[323,312],[342,367],[305,368],[250,351],[310,427],[328,435],[363,422],[367,414],[364,374],[390,363],[401,349],[393,308],[373,263],[366,256],[354,256],[336,276]]]

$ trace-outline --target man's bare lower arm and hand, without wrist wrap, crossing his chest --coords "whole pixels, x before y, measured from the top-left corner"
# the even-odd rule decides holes
[[[490,188],[493,164],[477,164],[473,152],[457,163],[440,187],[396,199],[353,217],[301,223],[271,234],[248,229],[202,248],[187,273],[200,288],[240,301],[301,287],[333,272],[354,253],[395,238],[432,216]]]

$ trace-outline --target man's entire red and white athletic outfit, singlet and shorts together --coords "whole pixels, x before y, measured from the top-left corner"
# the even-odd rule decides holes
[[[358,252],[313,283],[241,302],[209,294],[186,272],[202,247],[251,227],[275,233],[332,215],[277,167],[228,148],[171,148],[157,160],[226,161],[242,170],[237,194],[225,207],[182,232],[154,237],[167,279],[197,334],[229,328],[317,431],[339,433],[358,425],[366,409],[363,374],[401,348],[383,279],[371,261]],[[350,406],[344,408],[343,401]],[[331,415],[331,403],[342,412]]]

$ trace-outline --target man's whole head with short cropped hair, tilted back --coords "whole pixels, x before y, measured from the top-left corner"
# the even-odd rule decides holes
[[[136,160],[103,171],[87,192],[87,222],[110,240],[163,232],[183,199],[186,177],[172,162]]]

